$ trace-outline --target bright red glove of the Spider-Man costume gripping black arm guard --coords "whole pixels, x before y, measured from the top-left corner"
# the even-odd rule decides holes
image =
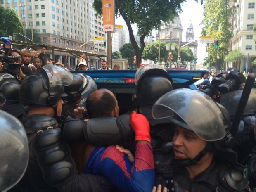
[[[132,115],[130,116],[130,124],[135,133],[135,141],[143,140],[150,142],[150,126],[144,115],[136,114],[136,112],[133,111]]]

